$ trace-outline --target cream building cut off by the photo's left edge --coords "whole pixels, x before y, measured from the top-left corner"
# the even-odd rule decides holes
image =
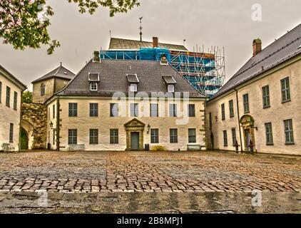
[[[26,86],[0,66],[0,151],[18,151],[21,95]]]

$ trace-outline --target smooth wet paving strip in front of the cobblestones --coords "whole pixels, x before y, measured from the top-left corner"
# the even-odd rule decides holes
[[[263,192],[256,205],[245,192],[50,192],[46,204],[40,197],[36,192],[0,193],[0,213],[301,214],[297,192]]]

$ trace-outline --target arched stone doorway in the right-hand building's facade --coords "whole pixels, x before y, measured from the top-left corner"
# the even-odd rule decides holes
[[[243,115],[242,118],[240,118],[240,125],[243,128],[245,151],[248,152],[256,151],[254,123],[255,120],[251,115]]]

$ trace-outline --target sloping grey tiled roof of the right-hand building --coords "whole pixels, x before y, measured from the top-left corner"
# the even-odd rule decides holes
[[[250,58],[213,98],[301,54],[301,24]],[[212,98],[212,99],[213,99]]]

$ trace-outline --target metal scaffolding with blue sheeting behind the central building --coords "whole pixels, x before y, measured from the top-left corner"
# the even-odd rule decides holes
[[[140,48],[140,50],[108,50],[100,52],[101,59],[160,61],[164,55],[191,85],[212,97],[225,82],[225,51],[211,47],[208,53],[200,51],[172,51],[165,48]]]

